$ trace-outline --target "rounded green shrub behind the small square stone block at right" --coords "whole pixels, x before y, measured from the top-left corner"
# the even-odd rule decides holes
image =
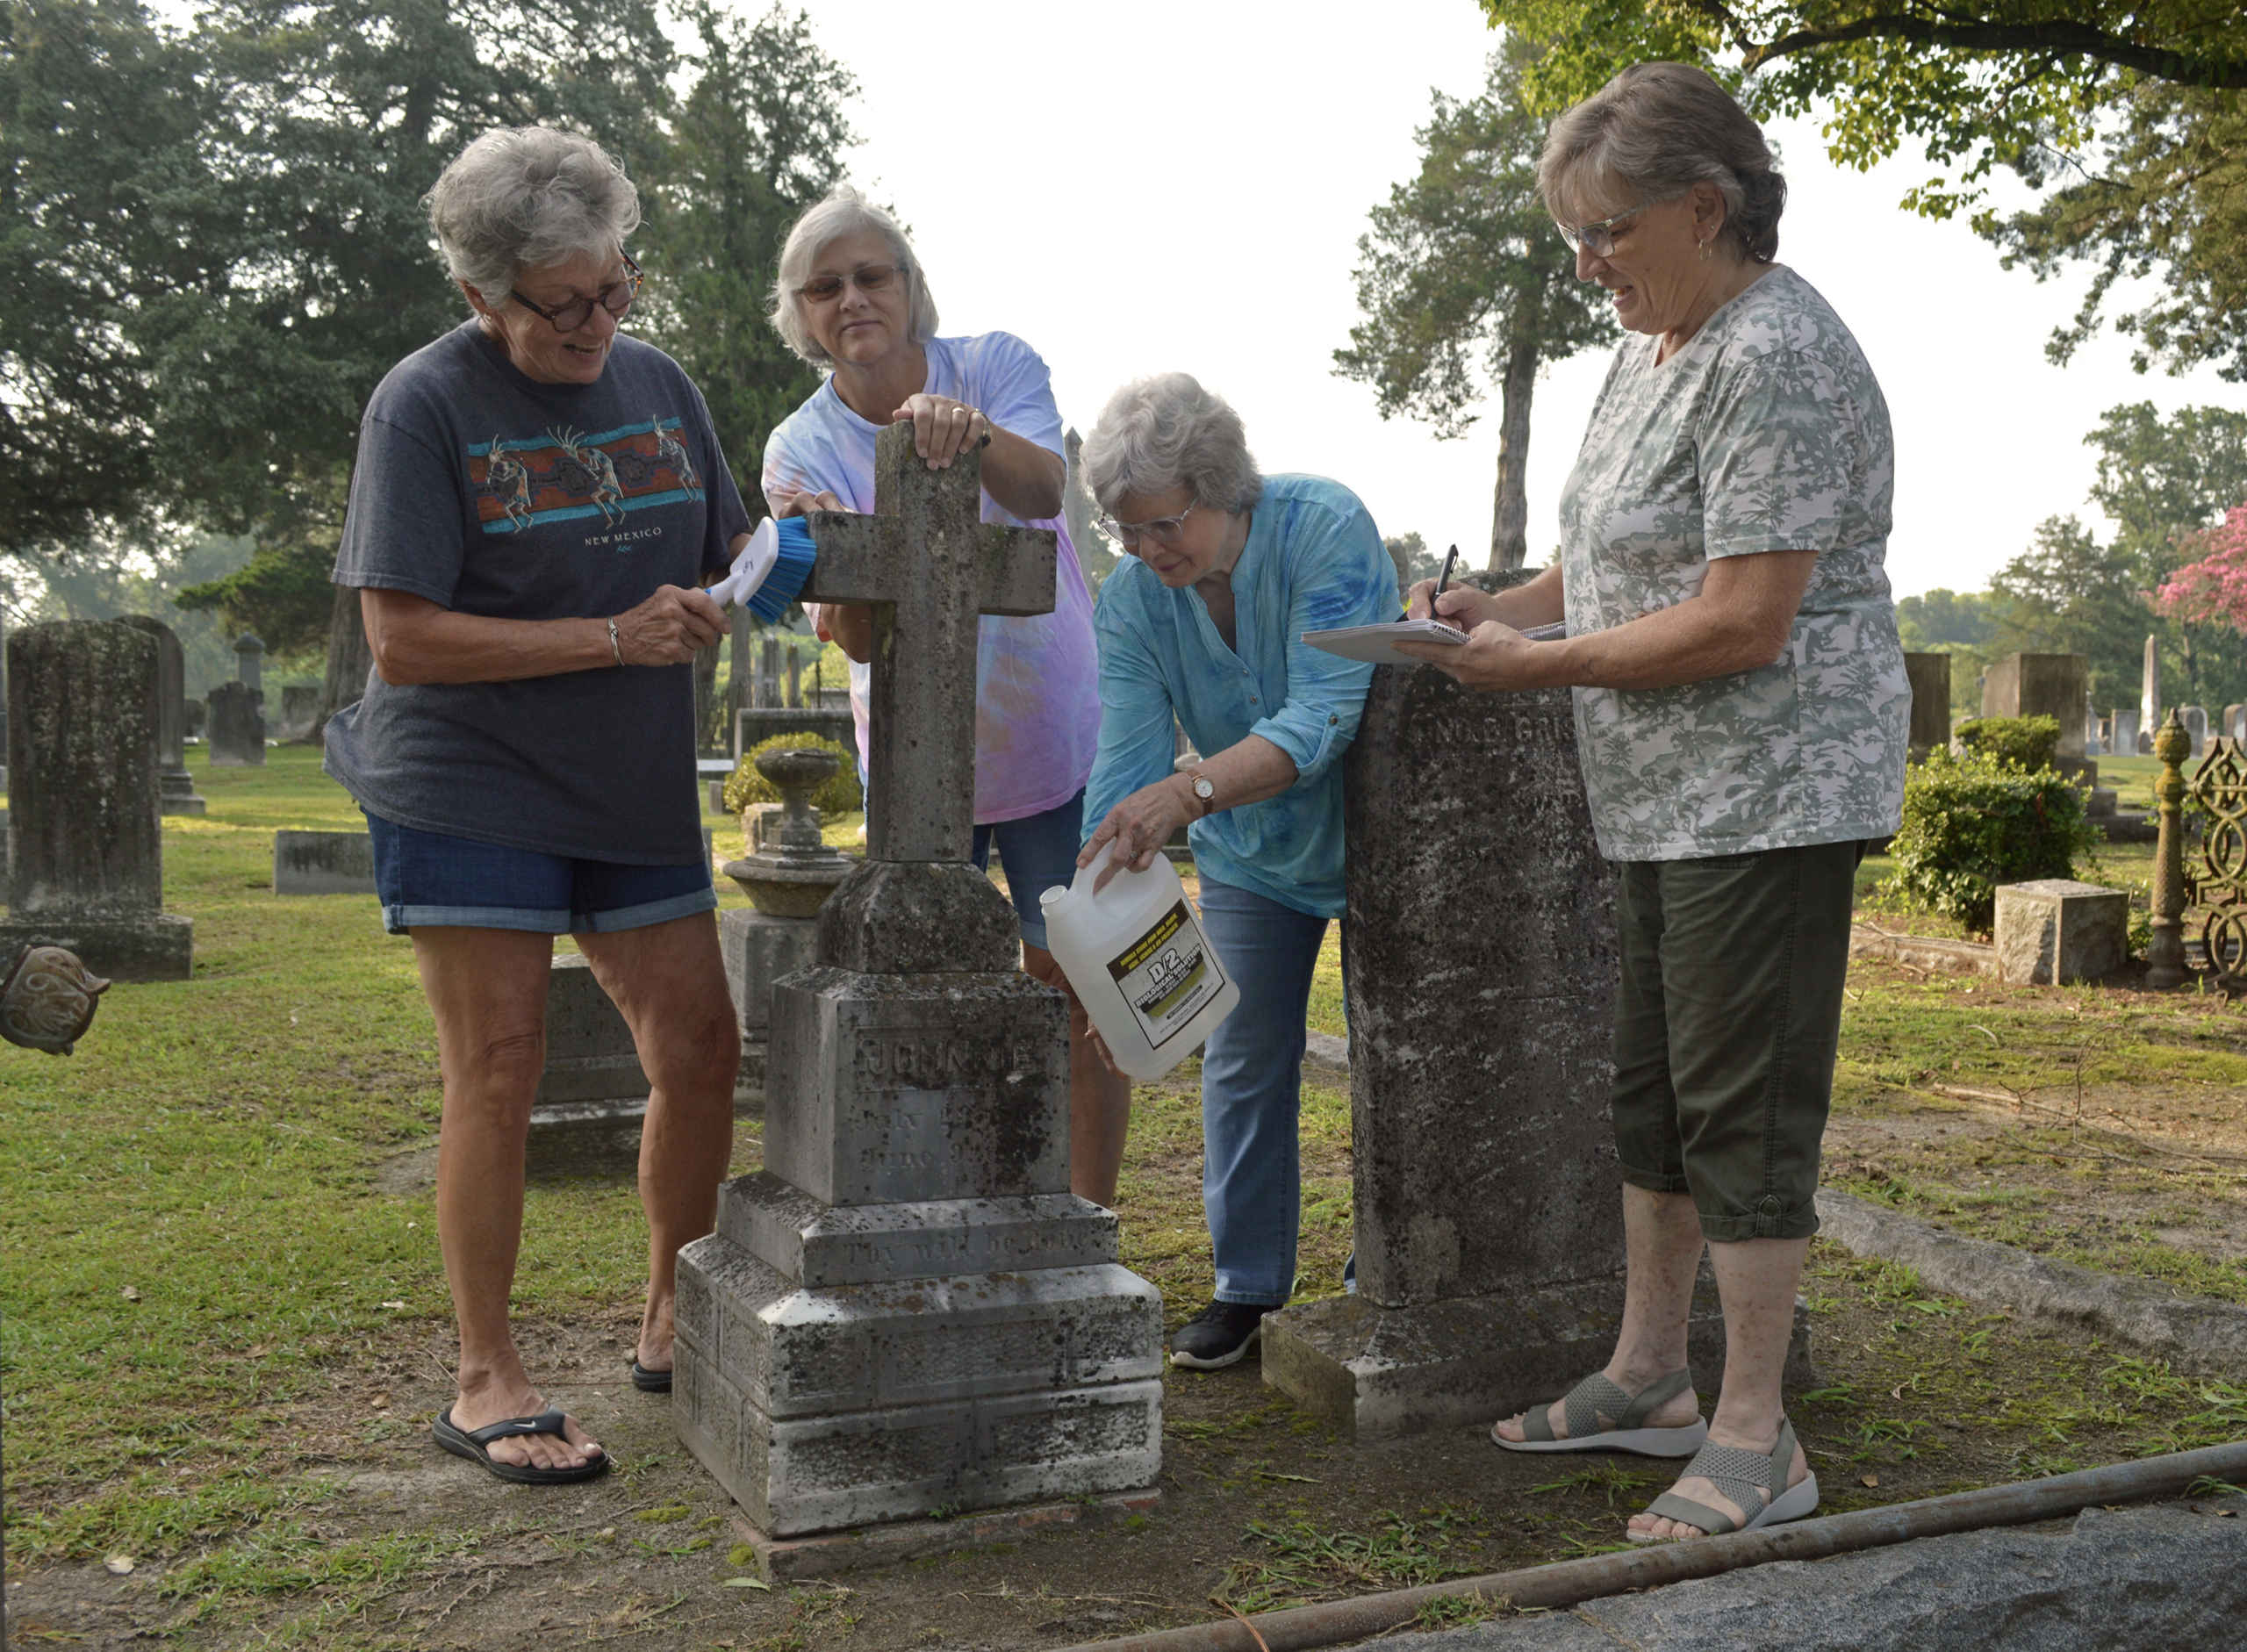
[[[2049,717],[2029,717],[2052,726]],[[1903,829],[1890,843],[1890,890],[1982,935],[1998,915],[1998,886],[2074,877],[2099,845],[2083,793],[2052,769],[1930,751],[1903,775]]]

